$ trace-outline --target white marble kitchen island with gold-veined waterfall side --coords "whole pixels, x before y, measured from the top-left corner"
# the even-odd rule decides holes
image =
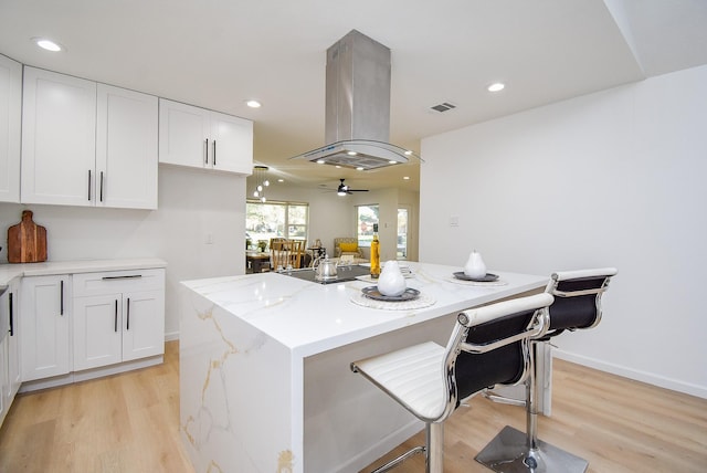
[[[420,299],[384,308],[361,299],[366,281],[264,273],[182,283],[180,428],[196,471],[359,471],[423,424],[349,364],[445,345],[460,311],[547,283],[506,272],[469,283],[452,276],[460,267],[409,265]]]

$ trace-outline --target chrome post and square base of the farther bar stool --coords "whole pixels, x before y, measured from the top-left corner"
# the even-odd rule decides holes
[[[500,473],[584,473],[589,463],[538,439],[538,391],[536,356],[538,343],[531,343],[529,376],[526,380],[526,431],[506,425],[476,455],[476,461]]]

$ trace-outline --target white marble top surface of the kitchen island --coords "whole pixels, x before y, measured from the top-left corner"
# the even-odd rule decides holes
[[[454,280],[461,267],[409,263],[408,287],[434,301],[422,308],[384,309],[355,304],[370,282],[317,284],[277,273],[246,274],[182,284],[306,357],[505,296],[545,287],[547,276],[490,272],[499,283]]]

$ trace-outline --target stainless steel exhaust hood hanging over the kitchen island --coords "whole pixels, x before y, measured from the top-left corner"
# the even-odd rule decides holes
[[[360,170],[420,159],[388,143],[390,49],[356,30],[327,50],[325,120],[327,145],[291,159]]]

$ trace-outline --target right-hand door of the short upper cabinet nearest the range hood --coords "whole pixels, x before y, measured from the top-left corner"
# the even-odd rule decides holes
[[[214,169],[253,172],[253,122],[211,113],[211,165]]]

